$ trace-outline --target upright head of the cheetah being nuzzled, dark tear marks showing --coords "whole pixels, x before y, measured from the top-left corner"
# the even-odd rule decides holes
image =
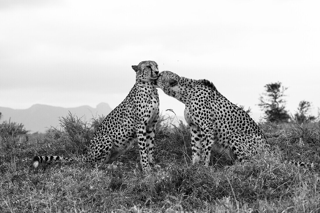
[[[160,75],[155,61],[142,61],[138,65],[132,65],[132,69],[137,73],[137,81],[152,82]]]

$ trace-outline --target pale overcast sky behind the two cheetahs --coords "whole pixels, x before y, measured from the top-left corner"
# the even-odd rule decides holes
[[[287,109],[320,107],[319,1],[0,1],[0,106],[109,103],[135,83],[131,65],[206,78],[257,106],[264,85],[289,87]],[[160,110],[184,105],[159,90]],[[255,119],[257,119],[255,117]]]

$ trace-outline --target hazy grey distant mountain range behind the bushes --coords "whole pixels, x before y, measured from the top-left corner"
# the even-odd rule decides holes
[[[79,106],[74,108],[63,108],[59,106],[49,106],[35,104],[28,109],[12,109],[0,107],[2,119],[0,122],[9,121],[22,123],[26,130],[33,132],[44,132],[51,126],[60,128],[59,117],[66,116],[69,111],[78,118],[84,117],[86,121],[96,117],[96,115],[108,115],[111,108],[107,103],[100,103],[96,108],[91,106]]]

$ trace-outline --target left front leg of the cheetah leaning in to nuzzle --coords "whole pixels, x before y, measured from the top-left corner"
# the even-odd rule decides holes
[[[190,124],[191,131],[191,149],[192,149],[192,163],[198,163],[201,156],[201,131],[200,128],[194,124]]]

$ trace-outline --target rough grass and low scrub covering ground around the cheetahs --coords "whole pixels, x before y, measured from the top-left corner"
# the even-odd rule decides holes
[[[0,138],[0,212],[320,212],[319,122],[281,128],[261,122],[272,150],[245,165],[219,154],[208,168],[191,165],[190,132],[180,123],[157,127],[159,170],[141,170],[137,144],[117,169],[80,161],[32,168],[35,154],[79,156],[97,126],[71,114],[61,125]],[[316,166],[298,168],[290,160]]]

